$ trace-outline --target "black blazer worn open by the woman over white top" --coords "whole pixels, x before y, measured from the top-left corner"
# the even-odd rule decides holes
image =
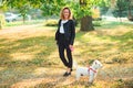
[[[58,31],[55,32],[55,41],[59,41],[59,34],[60,34],[60,26],[61,26],[61,20],[58,24]],[[64,29],[64,38],[69,41],[70,45],[73,45],[74,37],[75,37],[75,23],[73,20],[69,20],[66,23],[63,24]]]

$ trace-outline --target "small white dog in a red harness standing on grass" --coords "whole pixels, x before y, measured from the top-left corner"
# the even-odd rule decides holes
[[[79,80],[81,76],[89,76],[89,82],[92,84],[96,76],[98,69],[101,67],[102,64],[98,59],[95,59],[90,67],[76,67],[76,80]]]

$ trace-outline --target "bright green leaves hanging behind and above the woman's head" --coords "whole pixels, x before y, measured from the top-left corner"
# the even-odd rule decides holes
[[[102,1],[103,0],[86,0],[85,4],[81,6],[79,1],[51,0],[44,1],[42,3],[41,10],[43,11],[43,15],[59,15],[62,7],[70,7],[73,12],[73,16],[75,19],[81,19],[85,15],[92,15],[91,8],[103,4]]]

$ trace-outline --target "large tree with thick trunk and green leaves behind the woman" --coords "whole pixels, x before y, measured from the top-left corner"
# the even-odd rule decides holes
[[[43,2],[44,1],[44,2]],[[81,19],[81,31],[94,30],[92,24],[92,11],[93,6],[99,6],[101,0],[50,0],[42,1],[42,8],[44,15],[53,15],[60,13],[62,7],[68,6],[72,8],[75,19]]]

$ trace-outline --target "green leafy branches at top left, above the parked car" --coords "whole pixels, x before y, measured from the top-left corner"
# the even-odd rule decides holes
[[[17,10],[23,16],[23,22],[24,22],[28,12],[32,8],[39,8],[39,7],[40,7],[39,0],[3,0],[3,4],[1,8],[3,10],[11,10],[11,9]]]

